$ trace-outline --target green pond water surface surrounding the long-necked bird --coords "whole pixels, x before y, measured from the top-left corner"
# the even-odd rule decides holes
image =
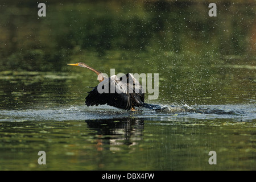
[[[2,1],[0,170],[255,170],[255,3],[216,3]],[[85,106],[79,61],[158,73],[167,110]]]

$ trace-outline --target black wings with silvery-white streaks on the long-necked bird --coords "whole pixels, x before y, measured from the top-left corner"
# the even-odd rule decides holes
[[[144,91],[139,82],[130,73],[121,78],[114,75],[100,82],[89,92],[85,104],[87,106],[108,104],[125,110],[131,109],[134,104],[141,105],[144,102]],[[130,84],[129,79],[132,79]]]

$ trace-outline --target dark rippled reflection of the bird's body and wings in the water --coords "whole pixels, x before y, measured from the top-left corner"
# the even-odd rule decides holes
[[[143,118],[109,118],[86,120],[97,139],[97,150],[118,151],[119,146],[135,146],[142,139]]]

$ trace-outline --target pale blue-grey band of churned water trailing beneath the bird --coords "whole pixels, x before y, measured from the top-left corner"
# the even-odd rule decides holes
[[[139,108],[137,111],[116,109],[108,105],[102,106],[69,106],[47,107],[44,109],[1,110],[0,122],[22,121],[85,121],[92,119],[112,118],[152,118],[167,121],[174,118],[197,119],[232,119],[233,121],[255,121],[255,105],[164,105],[166,109],[150,110]]]

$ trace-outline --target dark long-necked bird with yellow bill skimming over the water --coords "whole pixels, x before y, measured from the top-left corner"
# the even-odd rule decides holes
[[[119,109],[125,110],[134,110],[134,107],[143,106],[148,109],[153,110],[162,110],[165,107],[159,105],[152,105],[144,103],[144,90],[139,84],[139,81],[134,78],[133,75],[127,73],[124,78],[125,80],[121,80],[116,75],[111,77],[105,77],[102,72],[89,67],[85,63],[76,63],[76,64],[68,64],[73,66],[79,66],[83,68],[88,68],[95,72],[98,75],[98,81],[101,83],[89,92],[88,96],[85,98],[85,104],[87,106],[93,105],[105,105],[108,104],[110,106],[117,107]],[[123,77],[122,77],[123,78]],[[129,79],[132,79],[129,81]],[[132,83],[132,85],[131,85]],[[98,92],[99,89],[104,88],[104,86],[108,86],[107,93]],[[99,88],[100,87],[100,88]],[[111,92],[111,89],[114,88],[114,93]]]

